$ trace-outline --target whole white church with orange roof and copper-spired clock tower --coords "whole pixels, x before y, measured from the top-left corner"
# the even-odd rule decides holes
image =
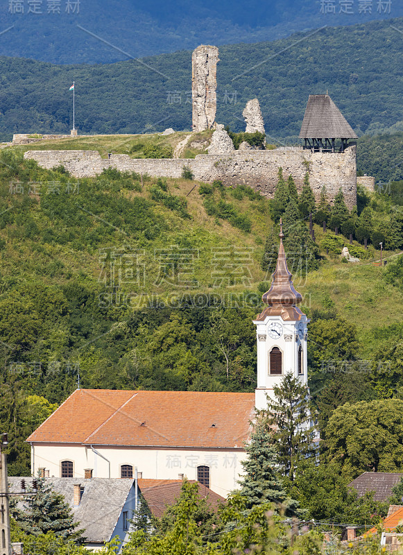
[[[255,409],[267,407],[286,373],[307,384],[307,324],[298,308],[280,231],[277,266],[254,321],[255,393],[77,389],[38,427],[35,476],[198,480],[227,497],[242,474]]]

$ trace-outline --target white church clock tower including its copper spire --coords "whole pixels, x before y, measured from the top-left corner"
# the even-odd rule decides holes
[[[296,306],[302,296],[295,291],[287,268],[283,246],[284,233],[280,220],[280,248],[271,288],[264,293],[268,307],[253,322],[257,332],[257,409],[267,408],[267,397],[273,399],[273,386],[280,385],[286,373],[308,383],[307,316]]]

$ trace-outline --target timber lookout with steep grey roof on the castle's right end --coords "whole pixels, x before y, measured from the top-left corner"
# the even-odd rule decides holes
[[[348,139],[358,139],[328,94],[310,94],[300,139],[305,139],[304,149],[313,152],[344,152]],[[336,148],[336,139],[341,140]]]

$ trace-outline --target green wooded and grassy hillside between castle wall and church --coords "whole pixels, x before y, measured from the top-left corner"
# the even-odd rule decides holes
[[[346,400],[400,395],[402,208],[364,191],[352,214],[340,194],[332,208],[325,196],[315,205],[309,173],[300,195],[281,173],[277,191],[270,201],[248,187],[142,182],[115,170],[76,180],[19,149],[1,151],[0,424],[11,473],[28,472],[24,438],[78,384],[253,391],[252,318],[270,284],[280,216],[311,318],[316,401],[325,395],[328,415]],[[379,241],[386,268],[373,264]],[[342,261],[345,245],[359,263]],[[385,375],[383,359],[395,360]]]

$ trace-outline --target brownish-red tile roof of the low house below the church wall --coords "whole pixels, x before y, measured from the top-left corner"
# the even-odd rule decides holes
[[[189,480],[194,483],[194,480]],[[144,499],[150,508],[151,513],[157,518],[160,518],[167,507],[175,504],[180,496],[180,490],[182,488],[182,481],[176,481],[173,484],[165,484],[164,486],[155,486],[153,488],[142,488]],[[218,495],[214,491],[206,488],[203,484],[198,484],[198,497],[204,499],[207,497],[207,502],[212,506],[214,510],[218,508],[219,502],[225,502],[225,498]]]

